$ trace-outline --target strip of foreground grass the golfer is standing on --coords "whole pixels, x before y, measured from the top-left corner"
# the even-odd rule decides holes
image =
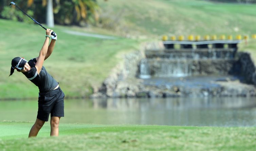
[[[60,124],[49,137],[49,122],[27,139],[33,123],[1,122],[0,150],[255,150],[255,127]]]

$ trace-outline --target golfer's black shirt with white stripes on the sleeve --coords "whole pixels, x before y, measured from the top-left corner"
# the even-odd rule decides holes
[[[36,86],[38,86],[40,94],[46,94],[54,90],[58,85],[58,82],[42,67],[40,73],[36,70],[36,58],[29,60],[28,64],[31,70],[28,72],[23,72],[23,74]]]

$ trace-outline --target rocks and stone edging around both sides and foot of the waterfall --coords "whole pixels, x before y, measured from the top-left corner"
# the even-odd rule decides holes
[[[194,61],[196,72],[201,75],[211,74],[235,74],[244,77],[248,84],[239,80],[214,81],[217,87],[189,89],[186,86],[148,86],[143,84],[143,80],[137,78],[139,63],[145,58],[145,50],[163,49],[162,43],[148,43],[142,50],[126,54],[124,60],[118,64],[110,73],[102,86],[91,96],[99,97],[248,97],[256,96],[256,68],[249,53],[240,52],[234,60],[209,61],[207,59]],[[198,64],[198,66],[196,66]],[[214,65],[213,65],[214,64]],[[200,65],[200,66],[199,66]],[[233,66],[233,67],[232,67]],[[198,67],[198,69],[197,69]],[[200,67],[200,68],[199,68]],[[197,71],[198,70],[198,71]],[[221,73],[221,71],[225,71]],[[251,85],[250,85],[251,84]]]

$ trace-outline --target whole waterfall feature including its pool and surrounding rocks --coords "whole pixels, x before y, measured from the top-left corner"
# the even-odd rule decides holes
[[[161,44],[159,47],[148,45],[136,61],[131,59],[137,54],[127,57],[125,62],[133,63],[127,64],[120,75],[106,79],[96,95],[138,98],[256,96],[254,85],[240,82],[253,83],[254,64],[249,54],[236,54],[236,50],[233,47],[176,50],[164,49]],[[139,60],[144,53],[146,57]],[[134,65],[138,65],[137,68]],[[115,81],[119,76],[121,78]]]

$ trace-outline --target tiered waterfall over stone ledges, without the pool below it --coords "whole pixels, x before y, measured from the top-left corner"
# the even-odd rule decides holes
[[[186,77],[227,73],[233,49],[148,50],[139,65],[139,77]],[[211,66],[211,68],[208,68]],[[223,66],[223,69],[220,68]],[[222,71],[223,70],[223,71]]]

